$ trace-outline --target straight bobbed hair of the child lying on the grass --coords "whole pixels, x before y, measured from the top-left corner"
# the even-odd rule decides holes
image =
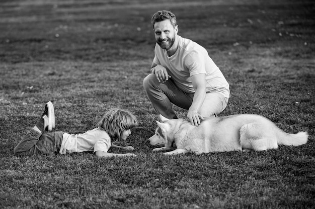
[[[97,127],[103,128],[112,140],[121,139],[123,131],[134,128],[138,125],[136,117],[122,109],[114,108],[105,113]]]

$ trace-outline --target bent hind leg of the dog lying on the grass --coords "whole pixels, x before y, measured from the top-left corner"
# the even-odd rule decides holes
[[[254,149],[262,151],[278,148],[276,136],[273,131],[268,130],[259,123],[245,124],[240,129],[240,142],[243,149]]]

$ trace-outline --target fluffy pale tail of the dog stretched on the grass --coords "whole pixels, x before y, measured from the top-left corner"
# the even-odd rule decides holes
[[[281,130],[281,133],[277,134],[277,143],[279,145],[298,146],[307,142],[308,134],[305,131],[298,132],[296,134],[285,133]]]

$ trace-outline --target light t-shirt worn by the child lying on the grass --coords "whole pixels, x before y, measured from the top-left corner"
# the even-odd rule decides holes
[[[60,154],[85,151],[107,152],[111,146],[111,138],[101,128],[94,128],[82,134],[64,133],[62,137]]]

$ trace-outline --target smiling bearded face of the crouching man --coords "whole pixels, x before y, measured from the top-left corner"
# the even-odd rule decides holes
[[[154,24],[155,41],[162,49],[169,50],[173,46],[177,32],[178,26],[174,28],[169,20]]]

